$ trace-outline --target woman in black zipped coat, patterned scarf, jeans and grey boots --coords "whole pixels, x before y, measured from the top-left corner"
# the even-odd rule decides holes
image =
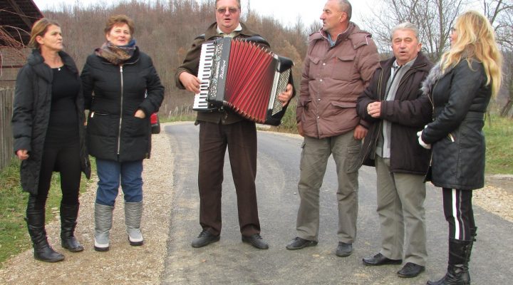
[[[82,71],[86,109],[90,110],[87,144],[96,159],[95,250],[109,249],[113,209],[121,185],[130,245],[140,246],[142,160],[150,157],[150,115],[164,98],[152,60],[133,40],[134,23],[111,16],[107,42],[88,56]]]

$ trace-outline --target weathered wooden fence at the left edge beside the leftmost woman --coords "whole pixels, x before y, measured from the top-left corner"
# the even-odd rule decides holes
[[[11,117],[14,89],[0,88],[0,171],[9,165],[14,156]]]

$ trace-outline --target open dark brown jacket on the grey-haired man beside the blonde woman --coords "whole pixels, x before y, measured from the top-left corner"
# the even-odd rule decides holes
[[[418,144],[417,132],[431,121],[432,108],[427,98],[422,98],[420,86],[429,74],[432,63],[418,53],[413,66],[400,79],[395,99],[386,100],[386,86],[390,78],[390,68],[395,58],[380,63],[366,90],[358,97],[356,111],[367,123],[369,131],[363,140],[358,165],[374,166],[375,147],[383,130],[383,120],[392,123],[390,134],[390,171],[425,175],[429,167],[430,151]],[[367,113],[370,103],[381,102],[380,118],[372,118]]]

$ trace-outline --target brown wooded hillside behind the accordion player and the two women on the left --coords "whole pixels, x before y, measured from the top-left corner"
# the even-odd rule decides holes
[[[170,115],[192,108],[193,95],[175,87],[175,71],[185,58],[192,40],[215,21],[214,5],[213,0],[202,4],[193,0],[131,1],[112,7],[64,6],[59,11],[43,11],[43,14],[61,24],[66,51],[76,59],[79,68],[94,48],[105,41],[103,28],[108,16],[127,14],[133,18],[137,45],[152,57],[166,88],[160,114]],[[293,28],[284,28],[276,19],[251,11],[247,13],[243,9],[242,15],[242,21],[261,33],[275,53],[296,63],[293,72],[296,87],[299,87],[308,36],[301,21]]]

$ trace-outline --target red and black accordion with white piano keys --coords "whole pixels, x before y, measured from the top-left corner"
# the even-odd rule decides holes
[[[247,39],[219,38],[202,44],[199,93],[193,110],[231,108],[242,117],[279,125],[284,108],[278,95],[286,90],[294,63]]]

